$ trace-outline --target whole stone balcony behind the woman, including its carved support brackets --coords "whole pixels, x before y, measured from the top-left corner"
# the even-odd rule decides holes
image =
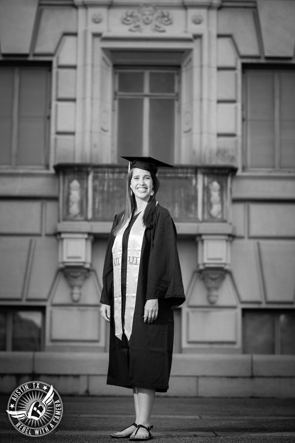
[[[118,165],[60,163],[59,267],[73,302],[91,269],[94,236],[110,232],[114,215],[125,207],[127,168]],[[216,303],[218,288],[230,269],[233,166],[176,166],[158,171],[157,199],[172,215],[178,235],[198,243],[196,273],[208,289],[208,302]]]

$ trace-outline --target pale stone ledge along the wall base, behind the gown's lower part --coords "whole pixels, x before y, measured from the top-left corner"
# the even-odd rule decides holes
[[[106,376],[108,353],[0,352],[0,374]],[[173,377],[295,377],[295,355],[174,354]]]

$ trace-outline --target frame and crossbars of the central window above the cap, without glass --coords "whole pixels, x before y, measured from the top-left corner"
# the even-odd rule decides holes
[[[119,93],[118,73],[119,72],[144,72],[144,92],[143,93]],[[143,98],[143,145],[142,156],[149,156],[149,98],[174,98],[175,100],[175,125],[174,125],[174,146],[172,158],[176,159],[177,144],[180,137],[180,66],[160,66],[160,65],[114,65],[113,69],[113,121],[114,121],[114,151],[118,161],[118,98]],[[175,93],[149,93],[148,81],[150,72],[173,72],[175,74]]]

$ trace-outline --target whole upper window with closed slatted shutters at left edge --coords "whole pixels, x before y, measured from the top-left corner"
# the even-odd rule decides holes
[[[0,65],[0,166],[48,165],[50,67]]]

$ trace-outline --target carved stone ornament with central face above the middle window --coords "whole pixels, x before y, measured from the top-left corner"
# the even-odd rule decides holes
[[[166,32],[165,26],[172,25],[169,11],[160,11],[150,3],[144,3],[135,10],[127,10],[122,16],[123,25],[130,26],[130,32],[143,32],[150,26],[152,32]]]

